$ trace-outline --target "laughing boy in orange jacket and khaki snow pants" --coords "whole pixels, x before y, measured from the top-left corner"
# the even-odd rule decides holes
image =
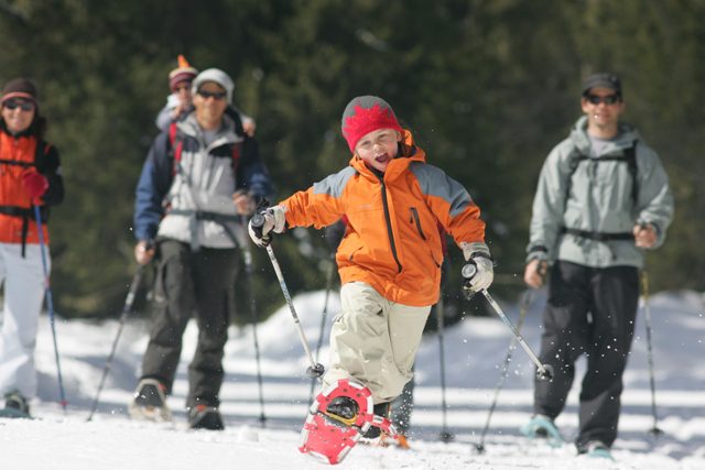
[[[479,208],[459,183],[426,164],[424,151],[387,101],[352,99],[341,129],[352,152],[349,166],[264,209],[263,226],[250,223],[249,233],[264,247],[272,232],[323,228],[347,218],[336,253],[341,311],[332,327],[323,385],[360,382],[372,393],[375,414],[384,416],[413,375],[424,324],[438,300],[437,223],[477,265],[474,289],[491,284],[492,261]]]

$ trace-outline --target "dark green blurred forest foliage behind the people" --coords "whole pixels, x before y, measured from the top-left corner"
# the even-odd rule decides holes
[[[39,83],[64,163],[67,199],[51,221],[58,311],[121,308],[135,269],[134,186],[178,53],[232,75],[280,198],[347,164],[349,99],[384,97],[430,163],[482,208],[508,296],[522,285],[536,176],[579,116],[581,79],[615,70],[626,118],[662,156],[676,196],[669,241],[649,259],[652,289],[704,289],[704,14],[702,1],[4,1],[0,81]],[[321,232],[296,233],[275,241],[290,289],[325,288]],[[456,293],[462,260],[451,252],[449,308],[476,310]],[[257,250],[262,315],[283,303],[269,264]]]

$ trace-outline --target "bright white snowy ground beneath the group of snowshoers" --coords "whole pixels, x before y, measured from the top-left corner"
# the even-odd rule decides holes
[[[314,347],[323,309],[323,293],[295,298],[299,315]],[[536,298],[522,330],[538,348],[540,311]],[[329,311],[338,299],[330,297]],[[516,305],[505,305],[516,321]],[[695,293],[671,293],[651,299],[659,427],[665,435],[653,440],[653,426],[643,315],[639,317],[632,357],[625,376],[620,438],[616,462],[576,457],[572,445],[551,449],[520,437],[518,428],[531,412],[532,365],[521,349],[514,352],[510,375],[500,394],[486,452],[479,440],[510,332],[495,318],[468,318],[445,331],[451,444],[438,439],[443,419],[436,335],[425,337],[416,370],[416,409],[412,449],[357,446],[338,466],[341,469],[705,469],[705,306]],[[186,364],[195,343],[195,328],[186,332],[186,346],[174,396],[170,405],[174,425],[131,422],[126,404],[137,382],[147,343],[144,321],[127,324],[100,406],[87,422],[106,357],[118,323],[57,321],[62,371],[69,402],[64,414],[57,404],[54,350],[46,317],[41,319],[36,361],[40,396],[32,404],[37,419],[0,419],[0,464],[4,469],[279,469],[323,468],[296,450],[306,414],[310,382],[302,375],[306,360],[290,313],[282,308],[258,327],[264,376],[265,427],[258,420],[260,405],[251,329],[231,330],[227,347],[226,383],[221,411],[223,433],[186,430],[182,411],[186,394]],[[322,358],[327,351],[322,350]],[[579,376],[579,375],[578,375]],[[574,437],[576,393],[557,424],[564,437]]]

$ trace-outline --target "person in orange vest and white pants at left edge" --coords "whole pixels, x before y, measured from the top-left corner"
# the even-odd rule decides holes
[[[58,151],[43,139],[46,119],[40,113],[34,83],[8,81],[0,107],[0,284],[4,286],[0,393],[6,408],[29,415],[29,403],[36,394],[34,346],[44,299],[34,207],[40,207],[48,244],[48,206],[64,199],[64,183]],[[46,261],[48,269],[51,260]]]

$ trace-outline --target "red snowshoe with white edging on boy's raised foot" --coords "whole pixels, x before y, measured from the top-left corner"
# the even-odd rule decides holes
[[[370,390],[349,379],[339,380],[311,405],[299,450],[330,464],[340,463],[370,426],[397,437],[388,418],[372,414]]]

